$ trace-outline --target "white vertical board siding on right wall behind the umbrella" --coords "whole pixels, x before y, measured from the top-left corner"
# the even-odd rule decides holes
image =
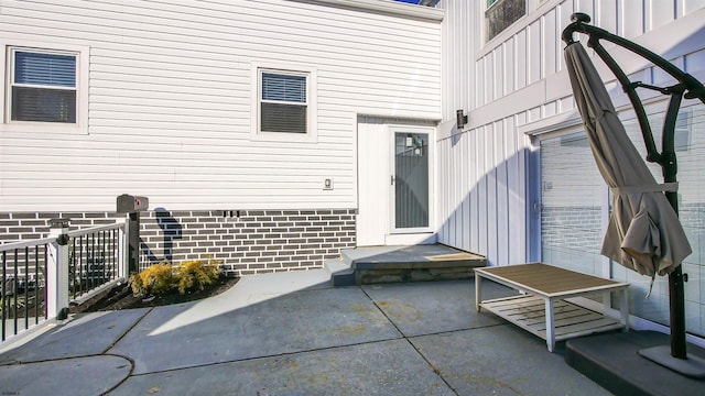
[[[567,86],[567,76],[561,79],[565,72],[560,35],[571,14],[586,12],[595,25],[633,38],[677,23],[674,19],[702,11],[705,1],[534,2],[535,7],[528,10],[527,18],[489,43],[482,38],[485,16],[481,2],[442,0],[440,4],[447,12],[442,32],[443,40],[448,40],[444,42],[443,53],[443,117],[451,122],[456,109],[466,109],[470,128],[465,131],[455,129],[451,136],[442,136],[437,144],[442,161],[438,240],[485,254],[490,265],[525,262],[531,244],[531,200],[528,197],[529,186],[533,183],[529,179],[528,166],[531,141],[518,129],[525,130],[528,123],[575,111],[570,90],[555,86]],[[468,21],[475,21],[470,32],[467,32]],[[663,47],[659,37],[652,35],[649,40]],[[642,41],[641,44],[648,46],[649,42]],[[458,65],[459,54],[468,56],[467,51],[473,52],[469,61]],[[705,70],[702,52],[681,55],[673,61],[688,73]],[[651,70],[638,73],[648,77],[644,81],[665,78]],[[474,81],[459,86],[458,81],[468,76]],[[545,95],[522,95],[522,89],[536,86],[543,87]],[[616,102],[619,100],[623,101],[617,98]],[[520,110],[502,112],[505,103]],[[492,106],[500,109],[492,111],[497,116],[490,119],[485,114],[487,109],[497,110]],[[482,121],[474,122],[474,116]],[[459,143],[452,144],[452,141]],[[464,144],[466,148],[460,148]],[[457,172],[455,167],[463,170]],[[457,177],[463,180],[458,182]]]

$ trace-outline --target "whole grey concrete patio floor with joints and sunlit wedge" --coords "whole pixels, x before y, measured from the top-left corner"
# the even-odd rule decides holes
[[[0,349],[0,394],[608,394],[561,349],[476,312],[471,279],[330,288],[328,276],[245,277],[200,301],[45,324]]]

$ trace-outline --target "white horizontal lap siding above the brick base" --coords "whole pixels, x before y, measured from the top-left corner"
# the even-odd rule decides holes
[[[3,43],[90,56],[88,134],[0,133],[3,210],[356,207],[352,114],[441,113],[437,22],[285,0],[1,8]],[[252,63],[315,68],[316,142],[251,140]]]

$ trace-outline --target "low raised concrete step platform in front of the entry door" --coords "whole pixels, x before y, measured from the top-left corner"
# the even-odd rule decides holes
[[[326,262],[334,286],[467,279],[486,265],[484,256],[440,244],[356,248]]]

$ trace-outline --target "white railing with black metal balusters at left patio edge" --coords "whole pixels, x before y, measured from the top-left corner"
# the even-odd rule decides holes
[[[126,220],[0,245],[1,341],[47,319],[65,319],[82,304],[128,276]]]

